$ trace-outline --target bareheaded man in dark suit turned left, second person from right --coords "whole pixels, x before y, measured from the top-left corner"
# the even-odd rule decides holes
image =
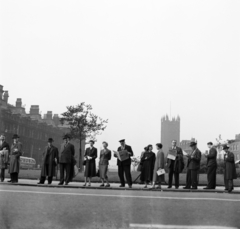
[[[212,142],[208,142],[207,146],[209,148],[209,152],[205,153],[205,157],[207,158],[208,185],[204,189],[215,189],[217,172],[217,150],[213,147]]]

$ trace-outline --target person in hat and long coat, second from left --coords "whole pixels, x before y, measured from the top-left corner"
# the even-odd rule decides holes
[[[11,146],[11,152],[9,156],[10,165],[9,173],[12,183],[18,183],[18,173],[20,170],[20,156],[22,155],[22,143],[19,142],[19,136],[13,135],[13,144]]]

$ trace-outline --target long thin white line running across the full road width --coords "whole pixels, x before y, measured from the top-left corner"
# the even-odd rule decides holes
[[[117,197],[117,198],[138,198],[138,199],[165,199],[165,200],[215,200],[240,202],[240,199],[220,199],[220,198],[196,198],[196,197],[167,197],[167,196],[131,196],[131,195],[110,195],[110,194],[90,194],[90,193],[71,193],[71,192],[39,192],[39,191],[24,191],[24,190],[0,190],[7,193],[30,193],[43,195],[69,195],[69,196],[94,196],[94,197]]]

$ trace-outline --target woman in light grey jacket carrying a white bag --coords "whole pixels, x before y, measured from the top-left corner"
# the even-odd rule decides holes
[[[154,170],[153,170],[153,186],[152,188],[155,188],[155,183],[158,182],[158,187],[159,189],[161,189],[161,183],[165,182],[165,176],[164,174],[158,176],[157,171],[159,169],[164,169],[164,153],[162,151],[162,144],[161,143],[157,143],[156,144],[157,147],[157,158],[155,161],[155,165],[154,165]]]

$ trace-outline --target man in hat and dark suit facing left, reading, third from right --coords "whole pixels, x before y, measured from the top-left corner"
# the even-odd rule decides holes
[[[191,142],[190,147],[192,148],[192,152],[187,155],[187,185],[184,189],[197,189],[198,186],[198,171],[200,169],[200,161],[201,161],[201,152],[197,148],[196,142]]]

